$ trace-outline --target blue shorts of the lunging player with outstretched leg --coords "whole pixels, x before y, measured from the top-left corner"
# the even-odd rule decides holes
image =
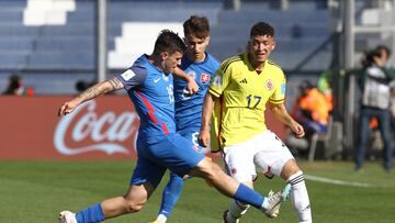
[[[180,177],[189,174],[204,155],[193,149],[190,141],[180,134],[153,136],[137,140],[137,166],[131,185],[159,185],[166,169]]]

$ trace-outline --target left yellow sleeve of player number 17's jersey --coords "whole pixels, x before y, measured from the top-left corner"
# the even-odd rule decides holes
[[[215,71],[213,81],[210,83],[208,91],[215,97],[219,97],[229,83],[230,79],[229,63],[225,60]]]

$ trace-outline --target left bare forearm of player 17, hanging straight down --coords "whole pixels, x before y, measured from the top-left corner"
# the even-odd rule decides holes
[[[199,133],[199,144],[204,147],[210,146],[210,122],[214,109],[215,97],[207,91],[204,97],[203,110],[202,110],[202,125]]]

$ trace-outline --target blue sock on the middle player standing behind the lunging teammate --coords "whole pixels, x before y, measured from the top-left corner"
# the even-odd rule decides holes
[[[163,190],[159,214],[163,214],[166,218],[169,218],[176,205],[176,202],[180,198],[182,187],[183,179],[178,175],[170,172],[170,181],[167,183]]]

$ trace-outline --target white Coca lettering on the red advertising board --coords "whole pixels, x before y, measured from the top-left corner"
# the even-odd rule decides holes
[[[110,155],[131,153],[122,143],[131,136],[136,138],[137,113],[123,112],[117,115],[108,111],[99,115],[95,109],[97,102],[91,100],[60,119],[54,136],[55,148],[60,154],[78,155],[94,150]],[[135,148],[135,142],[128,141],[127,144]]]

